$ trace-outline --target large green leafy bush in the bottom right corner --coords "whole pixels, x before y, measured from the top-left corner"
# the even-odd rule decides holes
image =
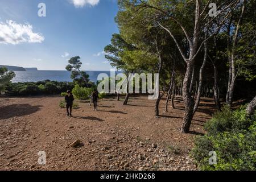
[[[255,170],[256,119],[245,109],[231,111],[224,107],[205,126],[208,134],[197,137],[192,158],[203,170]],[[217,164],[209,165],[209,152],[217,154]]]

